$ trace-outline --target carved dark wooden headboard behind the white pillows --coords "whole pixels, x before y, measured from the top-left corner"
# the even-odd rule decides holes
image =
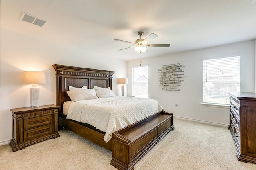
[[[63,103],[70,100],[66,91],[68,86],[94,88],[94,86],[112,89],[114,71],[96,70],[64,65],[52,65],[56,75],[56,105],[62,113]]]

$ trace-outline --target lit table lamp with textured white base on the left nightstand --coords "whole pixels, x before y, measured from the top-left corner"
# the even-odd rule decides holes
[[[23,72],[23,83],[32,84],[32,87],[29,88],[30,92],[30,107],[39,107],[39,87],[37,84],[46,84],[45,72],[39,71],[24,71]]]

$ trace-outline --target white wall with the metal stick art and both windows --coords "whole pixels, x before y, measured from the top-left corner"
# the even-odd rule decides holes
[[[170,47],[172,48],[172,47]],[[245,41],[218,47],[186,51],[165,56],[143,59],[149,66],[149,98],[158,100],[165,111],[174,116],[218,124],[229,124],[228,108],[202,106],[202,58],[218,56],[241,56],[241,92],[255,92],[255,41]],[[181,63],[185,66],[184,83],[180,91],[158,90],[158,68],[160,65]],[[128,94],[132,94],[132,66],[140,60],[128,61]],[[175,107],[178,104],[178,107]]]

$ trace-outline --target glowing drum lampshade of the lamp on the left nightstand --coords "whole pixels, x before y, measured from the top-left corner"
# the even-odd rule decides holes
[[[46,84],[45,72],[40,71],[24,71],[24,84]]]

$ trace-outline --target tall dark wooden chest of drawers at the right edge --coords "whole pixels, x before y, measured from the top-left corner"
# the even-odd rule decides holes
[[[238,160],[256,163],[256,94],[230,93],[229,113]]]

